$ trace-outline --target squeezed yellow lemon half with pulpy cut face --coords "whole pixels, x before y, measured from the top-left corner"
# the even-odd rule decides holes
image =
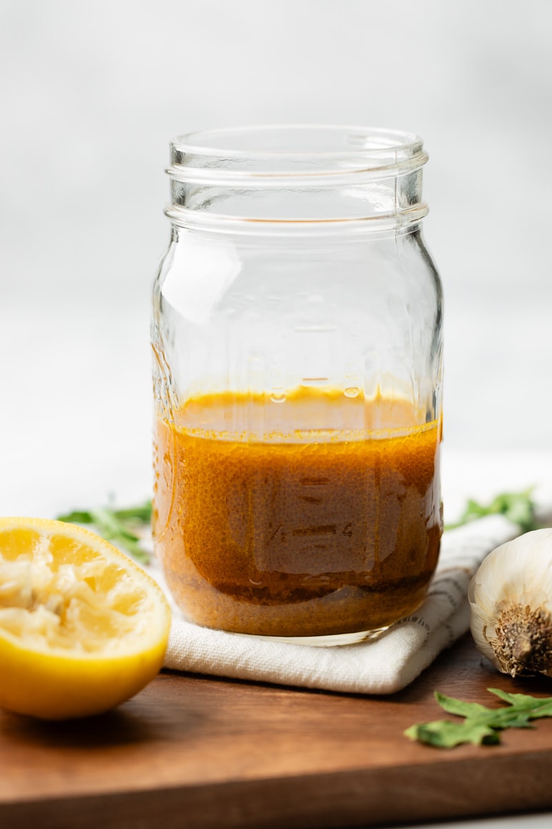
[[[160,670],[170,607],[151,576],[79,526],[0,518],[0,707],[99,714]]]

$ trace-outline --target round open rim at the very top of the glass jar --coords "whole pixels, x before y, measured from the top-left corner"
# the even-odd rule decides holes
[[[396,129],[282,124],[208,129],[170,143],[169,172],[180,181],[249,177],[399,175],[427,161],[422,139]]]

